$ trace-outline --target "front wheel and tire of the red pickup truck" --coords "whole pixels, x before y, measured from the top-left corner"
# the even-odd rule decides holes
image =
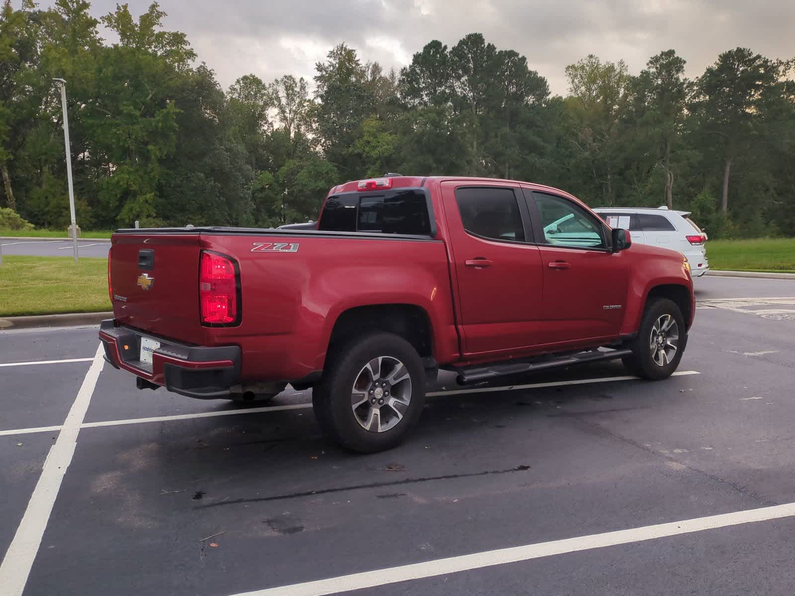
[[[630,345],[632,355],[622,362],[630,373],[659,381],[677,370],[687,343],[679,307],[672,300],[660,298],[646,306],[638,337]]]

